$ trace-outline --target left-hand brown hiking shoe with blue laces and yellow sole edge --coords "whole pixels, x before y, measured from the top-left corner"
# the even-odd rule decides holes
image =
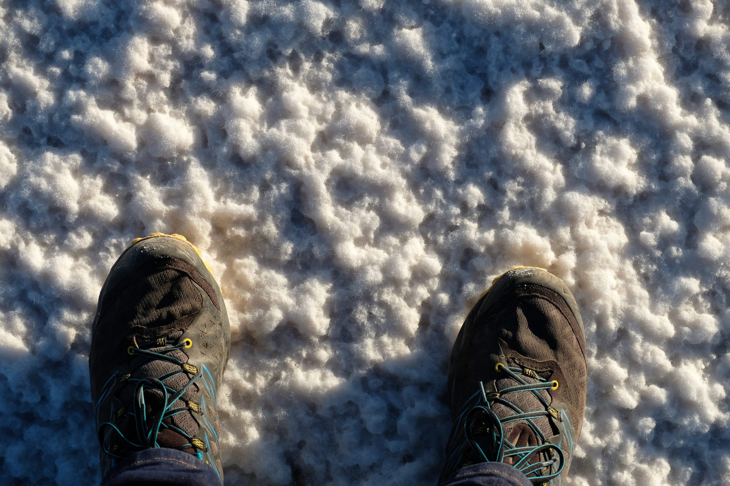
[[[91,399],[102,477],[171,447],[218,471],[216,392],[231,348],[218,283],[180,235],[137,238],[110,270],[91,328]]]

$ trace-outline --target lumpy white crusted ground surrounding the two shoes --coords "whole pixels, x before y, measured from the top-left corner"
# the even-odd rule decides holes
[[[101,283],[211,262],[229,485],[434,485],[491,279],[588,334],[572,485],[730,482],[730,3],[0,1],[3,484],[99,480]]]

